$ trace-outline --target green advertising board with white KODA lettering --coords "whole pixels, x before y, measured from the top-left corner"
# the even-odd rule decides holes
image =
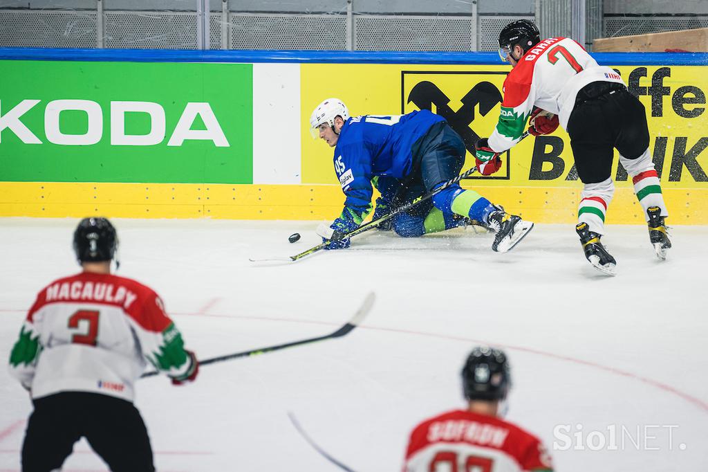
[[[252,67],[0,61],[0,181],[251,184]]]

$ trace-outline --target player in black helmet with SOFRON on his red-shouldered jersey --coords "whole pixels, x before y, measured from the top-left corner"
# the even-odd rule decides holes
[[[510,385],[506,354],[491,347],[473,349],[462,369],[467,408],[416,426],[403,471],[552,471],[551,457],[539,439],[501,418]]]

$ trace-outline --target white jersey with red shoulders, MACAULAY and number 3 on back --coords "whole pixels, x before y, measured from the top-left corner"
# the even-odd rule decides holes
[[[40,291],[9,368],[33,398],[82,391],[132,401],[146,359],[173,378],[191,369],[160,298],[132,279],[82,272]]]

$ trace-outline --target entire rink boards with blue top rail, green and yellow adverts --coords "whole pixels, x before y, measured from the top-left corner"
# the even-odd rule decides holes
[[[708,223],[706,54],[597,54],[646,107],[672,224]],[[332,151],[309,133],[322,99],[352,115],[429,108],[467,142],[491,133],[508,65],[489,53],[0,50],[0,216],[326,220]],[[569,137],[529,137],[474,188],[539,223],[571,223]],[[631,179],[608,223],[640,223]]]

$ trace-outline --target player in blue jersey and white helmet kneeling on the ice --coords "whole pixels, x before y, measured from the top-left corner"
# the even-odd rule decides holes
[[[444,118],[428,110],[406,115],[350,117],[339,99],[327,99],[310,116],[313,137],[334,147],[334,169],[346,196],[341,215],[318,234],[331,240],[355,230],[372,210],[372,186],[377,199],[374,218],[392,207],[413,201],[459,175],[465,147]],[[479,164],[479,162],[478,162]],[[509,215],[473,190],[451,185],[406,213],[392,218],[391,227],[403,237],[422,236],[469,223],[496,232],[492,249],[507,252],[523,239],[533,223]],[[382,229],[387,229],[383,227]],[[349,238],[334,238],[326,249],[349,247]]]

